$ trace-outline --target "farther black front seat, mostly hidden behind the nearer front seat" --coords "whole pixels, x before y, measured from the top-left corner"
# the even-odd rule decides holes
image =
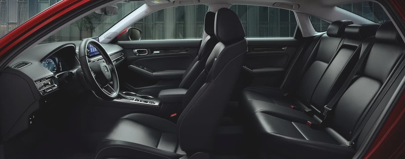
[[[185,70],[179,88],[190,88],[192,83],[196,80],[197,76],[201,73],[201,71],[203,71],[205,62],[207,61],[212,49],[219,42],[214,34],[214,21],[215,13],[207,12],[205,14],[204,20],[204,30],[207,34],[207,37],[205,37],[203,39],[203,42],[201,42],[200,50],[198,51],[197,57],[194,58],[190,66],[188,66],[187,70]],[[156,88],[147,88],[138,91],[138,94],[158,97],[160,91],[160,89]]]

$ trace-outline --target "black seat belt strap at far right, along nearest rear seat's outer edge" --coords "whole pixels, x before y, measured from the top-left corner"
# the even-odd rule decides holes
[[[405,61],[404,61],[404,53],[402,54],[400,61],[401,64],[399,64],[398,67],[396,67],[396,71],[390,76],[389,81],[387,81],[384,85],[384,89],[382,89],[382,91],[380,91],[379,93],[377,93],[376,96],[378,96],[378,98],[376,100],[374,100],[371,104],[371,106],[367,107],[366,110],[363,112],[362,116],[360,117],[360,119],[358,120],[360,123],[360,125],[356,125],[356,127],[354,128],[354,133],[352,138],[350,139],[349,142],[347,142],[347,144],[345,146],[348,147],[353,147],[354,146],[354,141],[357,140],[357,138],[360,136],[361,131],[364,129],[364,127],[367,124],[367,121],[364,121],[365,119],[370,119],[371,115],[373,114],[373,112],[375,111],[375,109],[377,108],[377,106],[380,104],[380,102],[382,101],[382,99],[384,98],[384,95],[388,92],[388,89],[391,87],[391,85],[394,83],[395,79],[399,76],[399,74],[401,73],[402,69],[405,67]]]

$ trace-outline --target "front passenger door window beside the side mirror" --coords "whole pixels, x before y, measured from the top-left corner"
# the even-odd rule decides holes
[[[207,11],[204,4],[173,6],[151,13],[131,26],[142,30],[141,40],[202,38]]]

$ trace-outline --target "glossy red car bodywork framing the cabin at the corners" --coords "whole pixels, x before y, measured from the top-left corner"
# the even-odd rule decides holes
[[[43,26],[50,24],[55,19],[70,15],[75,8],[89,5],[92,1],[95,0],[62,0],[32,17],[0,39],[0,57],[14,47],[18,47],[19,42],[35,34]],[[390,0],[390,3],[405,22],[405,2],[403,0]],[[404,138],[404,113],[405,93],[373,142],[365,157],[366,159],[397,158],[405,151],[405,140],[398,140]],[[394,146],[396,149],[392,148],[393,145],[396,145]]]

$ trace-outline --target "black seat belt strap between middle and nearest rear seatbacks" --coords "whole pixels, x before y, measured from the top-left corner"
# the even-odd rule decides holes
[[[367,59],[367,57],[370,53],[371,47],[373,47],[373,45],[374,45],[374,39],[375,39],[374,36],[372,36],[372,37],[364,40],[364,42],[368,42],[366,49],[364,49],[362,54],[360,53],[360,58],[357,61],[356,65],[354,66],[352,72],[350,72],[345,83],[343,83],[342,87],[339,89],[339,91],[336,93],[336,95],[332,98],[332,100],[330,100],[330,102],[324,106],[324,112],[322,113],[322,115],[324,116],[324,120],[328,116],[328,112],[330,112],[330,110],[333,110],[333,107],[337,104],[338,100],[341,98],[343,93],[345,93],[345,91],[349,87],[350,83],[352,83],[354,76],[356,76],[358,70],[360,70],[365,59]],[[364,44],[364,42],[363,42],[363,44]]]

